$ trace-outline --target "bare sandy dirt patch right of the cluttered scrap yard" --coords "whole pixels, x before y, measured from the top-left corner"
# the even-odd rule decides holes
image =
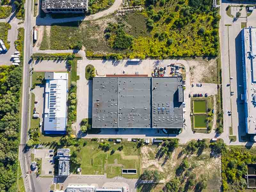
[[[190,83],[218,83],[217,59],[189,61]]]

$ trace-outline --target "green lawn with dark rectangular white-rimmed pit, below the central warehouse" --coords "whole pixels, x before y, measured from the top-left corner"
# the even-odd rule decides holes
[[[104,174],[108,178],[122,176],[122,168],[137,169],[137,174],[123,175],[123,177],[138,178],[140,169],[139,149],[136,145],[124,145],[122,151],[117,150],[120,144],[113,145],[107,152],[99,148],[99,145],[88,144],[81,149],[78,157],[81,158],[82,174]],[[111,154],[111,150],[115,153]],[[90,154],[90,156],[88,156]]]

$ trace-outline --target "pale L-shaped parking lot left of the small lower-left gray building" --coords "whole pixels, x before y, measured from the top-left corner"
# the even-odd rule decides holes
[[[35,158],[42,158],[41,175],[53,175],[54,173],[53,153],[50,153],[49,149],[35,149],[34,152],[35,152]]]

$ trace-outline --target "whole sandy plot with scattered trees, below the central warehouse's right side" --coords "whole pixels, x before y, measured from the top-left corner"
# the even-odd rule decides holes
[[[158,147],[141,148],[143,174],[140,179],[154,180],[154,183],[141,182],[138,184],[140,192],[220,190],[219,142],[217,146],[213,144],[209,148],[209,140],[192,140],[186,146],[175,145],[172,150],[162,153],[161,148],[168,142],[170,140],[165,140]]]

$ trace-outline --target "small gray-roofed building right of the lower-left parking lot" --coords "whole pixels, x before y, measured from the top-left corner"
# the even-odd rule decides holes
[[[70,149],[58,149],[56,157],[59,161],[59,166],[58,166],[59,177],[67,177],[69,175],[69,167],[70,167],[70,163],[69,163]]]

